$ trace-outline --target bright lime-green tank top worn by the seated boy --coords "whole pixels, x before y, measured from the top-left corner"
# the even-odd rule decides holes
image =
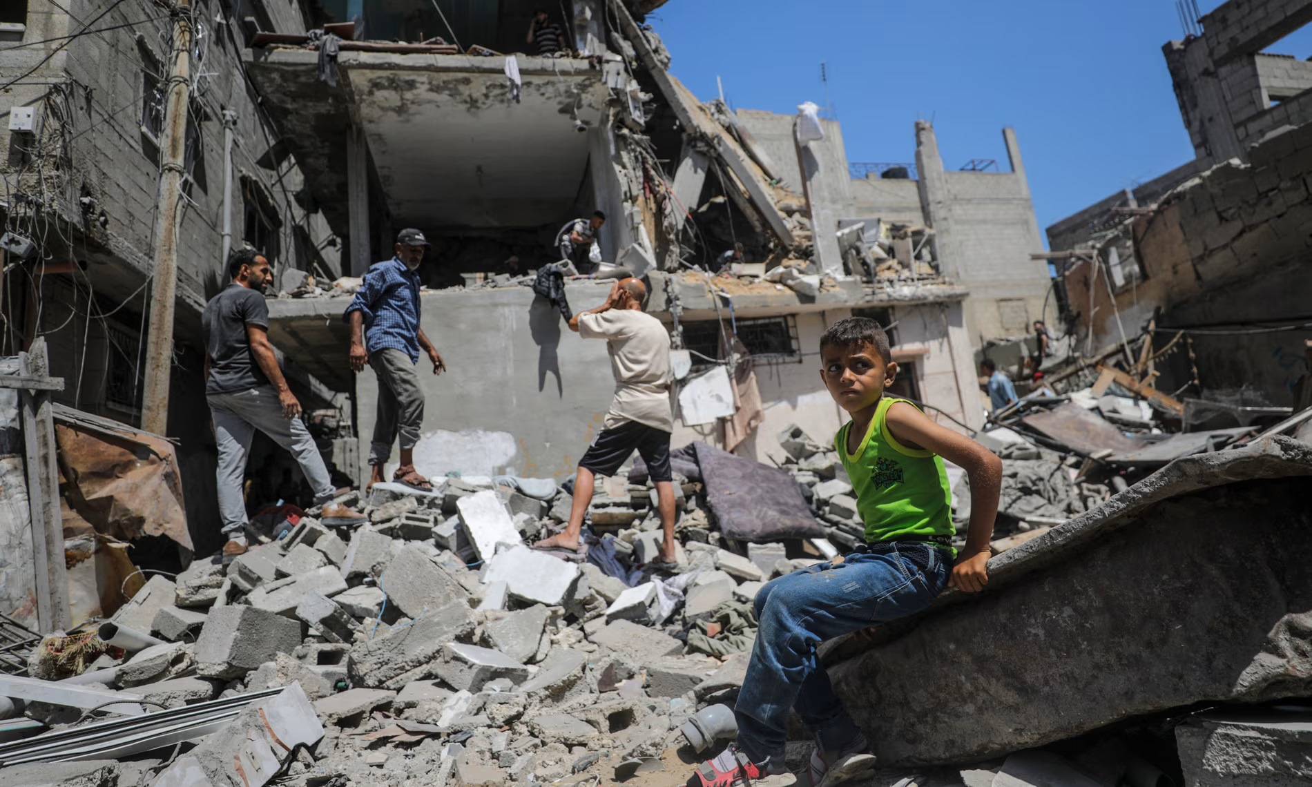
[[[857,513],[866,525],[866,543],[951,536],[953,491],[943,458],[933,451],[908,449],[890,434],[884,417],[896,401],[907,400],[879,400],[875,417],[870,420],[870,429],[855,454],[848,453],[851,421],[844,424],[833,438],[855,489]]]

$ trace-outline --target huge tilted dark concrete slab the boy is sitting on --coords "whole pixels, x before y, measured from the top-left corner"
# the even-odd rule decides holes
[[[834,687],[888,765],[972,762],[1160,710],[1312,694],[1299,623],[1312,614],[1309,475],[1312,446],[1283,437],[1177,459],[989,560],[983,593],[949,590],[870,644],[823,648]],[[926,661],[930,649],[942,657]],[[1109,664],[1134,665],[1135,679]],[[949,686],[968,720],[914,702]]]

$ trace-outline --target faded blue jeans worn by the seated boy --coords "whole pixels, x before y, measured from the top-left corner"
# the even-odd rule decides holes
[[[739,746],[753,762],[783,754],[792,707],[827,746],[857,735],[816,645],[928,607],[947,588],[951,567],[938,550],[926,551],[925,571],[893,547],[821,563],[761,588],[754,602],[760,630],[735,708]]]

